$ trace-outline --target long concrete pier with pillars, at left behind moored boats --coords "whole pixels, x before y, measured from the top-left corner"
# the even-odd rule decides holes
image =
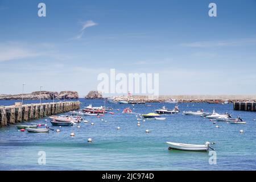
[[[80,109],[79,101],[0,106],[0,127]]]

